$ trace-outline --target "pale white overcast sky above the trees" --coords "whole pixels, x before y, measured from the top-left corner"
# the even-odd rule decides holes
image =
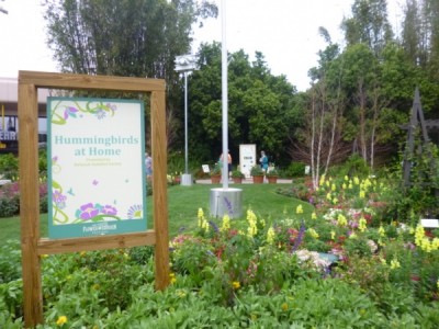
[[[317,65],[318,50],[326,47],[318,26],[328,30],[333,42],[342,45],[339,25],[350,15],[353,0],[211,0],[222,12],[226,4],[228,52],[244,49],[250,60],[261,52],[271,73],[284,75],[304,91],[307,71]],[[45,22],[38,0],[0,0],[0,77],[18,77],[19,70],[59,71],[46,45]],[[404,0],[387,0],[389,20],[401,25]],[[209,19],[192,37],[193,53],[201,43],[222,42],[222,18]],[[183,54],[182,54],[183,55]]]

